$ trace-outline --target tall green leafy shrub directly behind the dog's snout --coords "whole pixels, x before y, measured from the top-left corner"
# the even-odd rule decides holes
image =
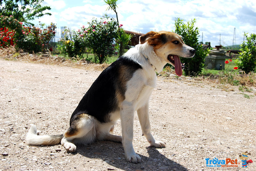
[[[204,58],[208,53],[208,50],[204,50],[202,44],[199,44],[198,28],[194,28],[196,19],[183,23],[183,20],[177,18],[175,20],[175,33],[182,36],[184,43],[196,50],[196,54],[192,58],[181,58],[181,62],[185,63],[184,72],[186,75],[197,76],[202,72],[204,67]]]

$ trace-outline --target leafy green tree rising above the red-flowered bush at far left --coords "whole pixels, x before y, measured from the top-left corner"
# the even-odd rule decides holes
[[[44,15],[52,15],[45,10],[51,10],[49,6],[42,6],[44,0],[0,0],[0,15],[13,16],[26,25],[34,24],[28,22]],[[2,27],[2,26],[0,26]]]

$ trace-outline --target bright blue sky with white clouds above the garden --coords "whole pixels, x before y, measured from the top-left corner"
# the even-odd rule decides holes
[[[53,22],[58,27],[78,30],[92,18],[99,19],[104,14],[116,19],[114,11],[106,11],[108,5],[104,0],[44,0],[43,5],[52,8],[52,15],[32,23]],[[244,32],[256,33],[255,0],[118,0],[117,7],[119,24],[125,30],[139,33],[174,31],[176,18],[185,23],[196,19],[198,40],[202,41],[203,37],[203,42],[211,42],[212,47],[241,44]]]

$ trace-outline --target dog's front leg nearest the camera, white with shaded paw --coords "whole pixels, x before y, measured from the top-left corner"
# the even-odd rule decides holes
[[[122,143],[126,160],[132,163],[140,163],[141,158],[135,153],[132,146],[134,111],[135,110],[131,102],[123,102],[120,111],[123,136]]]

